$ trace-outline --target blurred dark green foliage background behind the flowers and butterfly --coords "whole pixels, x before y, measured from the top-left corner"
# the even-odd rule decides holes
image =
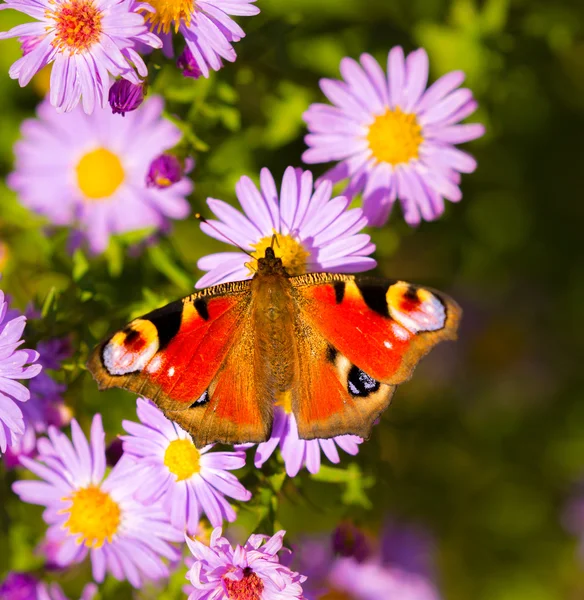
[[[242,174],[268,166],[279,178],[299,166],[301,119],[322,100],[320,77],[338,76],[343,56],[424,46],[432,79],[467,73],[486,136],[469,149],[476,173],[464,199],[436,223],[409,229],[396,210],[372,231],[378,272],[451,293],[465,311],[460,340],[435,350],[402,386],[369,442],[338,467],[294,480],[273,463],[242,477],[261,489],[241,509],[241,535],[282,526],[299,532],[350,518],[375,531],[386,513],[425,525],[437,540],[440,584],[449,600],[571,600],[584,597],[576,541],[562,511],[584,471],[584,4],[580,0],[259,0],[259,17],[238,60],[210,80],[183,79],[158,54],[151,90],[184,121],[185,150],[196,155],[194,211],[207,196],[234,200]],[[16,23],[0,13],[0,29]],[[0,50],[0,172],[11,170],[21,121],[39,101],[8,78],[20,55]],[[316,168],[315,172],[323,169]],[[0,183],[0,238],[9,258],[2,288],[23,308],[44,307],[28,339],[73,334],[74,358],[59,377],[86,427],[102,412],[109,439],[135,417],[132,395],[97,392],[84,371],[88,349],[107,331],[189,293],[198,258],[222,246],[194,219],[138,258],[134,236],[105,257],[66,252],[66,235],[47,236],[42,220]],[[41,511],[10,491],[2,473],[0,569],[35,569],[44,533]],[[236,532],[237,533],[237,532]],[[87,565],[59,577],[71,597]],[[179,598],[183,573],[169,590]],[[108,581],[101,597],[126,598]]]

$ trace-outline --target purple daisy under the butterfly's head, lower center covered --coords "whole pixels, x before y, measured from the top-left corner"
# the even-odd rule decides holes
[[[376,265],[368,256],[375,250],[371,238],[359,233],[367,224],[363,211],[347,210],[350,200],[343,196],[331,199],[329,181],[313,188],[310,171],[288,167],[278,194],[272,174],[262,169],[260,190],[244,176],[237,182],[235,193],[245,215],[222,200],[207,199],[220,219],[201,223],[207,235],[261,258],[277,234],[274,252],[291,275],[307,271],[351,273]],[[197,287],[247,279],[253,275],[249,262],[243,252],[205,256],[198,267],[209,272],[199,279]]]

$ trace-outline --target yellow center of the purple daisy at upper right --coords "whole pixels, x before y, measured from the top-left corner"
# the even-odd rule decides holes
[[[367,141],[378,162],[398,165],[418,158],[418,149],[424,138],[416,115],[404,113],[397,107],[375,117],[369,126]]]

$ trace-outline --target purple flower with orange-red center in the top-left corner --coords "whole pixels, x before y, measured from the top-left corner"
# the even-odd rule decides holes
[[[10,68],[10,77],[25,86],[40,69],[54,63],[50,102],[57,110],[73,110],[79,100],[88,114],[104,108],[110,77],[137,84],[138,74],[148,74],[134,45],[161,46],[137,12],[142,7],[133,0],[7,0],[0,9],[12,8],[37,19],[0,33],[0,39],[25,39],[25,54]]]

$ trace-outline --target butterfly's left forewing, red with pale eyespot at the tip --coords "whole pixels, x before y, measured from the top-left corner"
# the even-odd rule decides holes
[[[134,319],[100,344],[88,368],[101,389],[121,387],[181,411],[206,391],[249,308],[249,281],[207,288]]]

